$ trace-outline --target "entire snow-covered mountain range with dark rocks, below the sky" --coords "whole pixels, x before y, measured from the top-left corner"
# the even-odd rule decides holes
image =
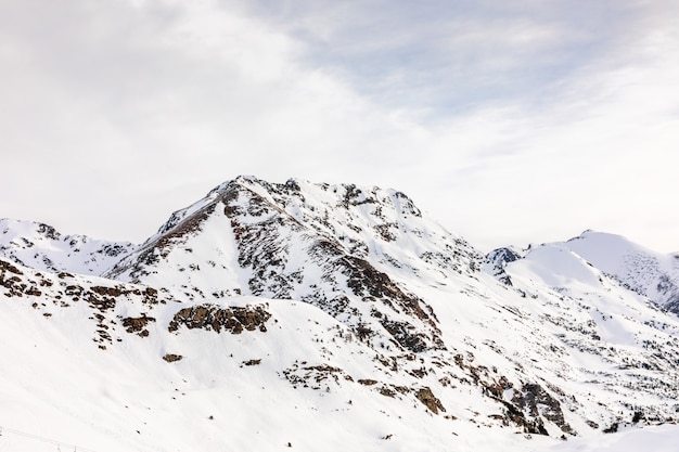
[[[402,193],[251,177],[105,266],[2,224],[5,431],[97,451],[526,450],[679,411],[679,319],[651,290],[679,280],[650,251],[625,267],[644,250],[622,237],[483,256]]]

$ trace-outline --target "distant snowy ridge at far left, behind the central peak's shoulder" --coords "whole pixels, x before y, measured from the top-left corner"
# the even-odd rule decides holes
[[[133,248],[129,242],[64,235],[49,224],[0,219],[0,257],[38,270],[101,274]]]

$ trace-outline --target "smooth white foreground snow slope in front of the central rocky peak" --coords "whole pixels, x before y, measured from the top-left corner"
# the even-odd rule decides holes
[[[353,332],[308,304],[232,297],[216,306],[261,308],[270,314],[265,328],[234,334],[182,324],[170,332],[169,319],[194,305],[93,276],[4,269],[3,282],[18,279],[3,285],[11,296],[0,305],[2,318],[13,319],[0,328],[2,356],[15,364],[0,371],[7,450],[54,450],[14,431],[95,451],[289,443],[303,451],[428,451],[507,441],[492,430],[472,440],[476,425],[434,415],[414,391],[390,389],[405,379],[387,379]],[[44,292],[30,295],[24,284]],[[125,295],[108,297],[116,290]],[[128,332],[126,319],[153,320]],[[168,354],[181,359],[167,362]],[[510,441],[518,447],[522,438]]]

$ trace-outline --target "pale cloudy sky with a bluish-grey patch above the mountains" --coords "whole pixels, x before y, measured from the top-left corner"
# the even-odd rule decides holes
[[[675,0],[2,0],[0,74],[0,217],[139,242],[254,175],[679,250]]]

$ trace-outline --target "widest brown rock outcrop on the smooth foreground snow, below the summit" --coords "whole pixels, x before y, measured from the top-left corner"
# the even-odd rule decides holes
[[[219,308],[202,305],[181,309],[170,321],[168,331],[176,332],[184,325],[189,330],[203,328],[220,333],[222,328],[231,334],[241,334],[243,330],[266,332],[271,314],[262,306]]]

